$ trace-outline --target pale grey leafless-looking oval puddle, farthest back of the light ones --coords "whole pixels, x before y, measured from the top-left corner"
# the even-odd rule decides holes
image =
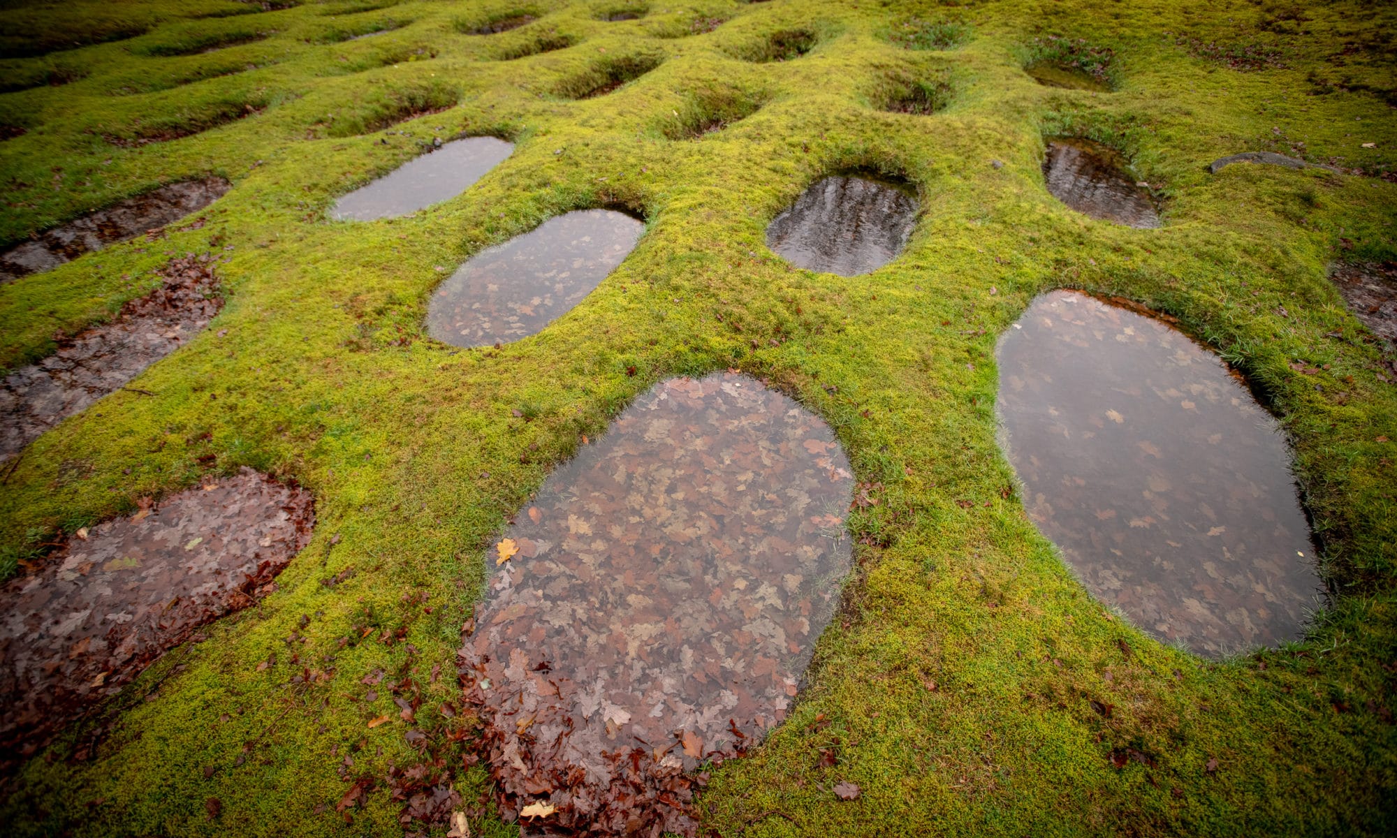
[[[454,198],[514,151],[495,137],[453,140],[335,201],[339,221],[397,218]]]

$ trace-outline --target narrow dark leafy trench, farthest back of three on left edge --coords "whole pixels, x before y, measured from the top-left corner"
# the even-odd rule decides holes
[[[229,189],[222,177],[170,183],[56,226],[0,253],[0,282],[56,268],[91,250],[162,228],[212,204]]]

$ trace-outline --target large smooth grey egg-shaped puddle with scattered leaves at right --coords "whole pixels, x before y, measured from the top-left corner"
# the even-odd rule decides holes
[[[1097,598],[1208,656],[1301,634],[1322,587],[1285,440],[1213,353],[1055,291],[999,374],[1028,514]]]

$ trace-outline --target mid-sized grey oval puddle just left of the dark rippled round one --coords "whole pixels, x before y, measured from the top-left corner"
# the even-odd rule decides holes
[[[427,332],[455,346],[536,334],[616,270],[644,229],[623,212],[578,210],[482,250],[432,292]]]

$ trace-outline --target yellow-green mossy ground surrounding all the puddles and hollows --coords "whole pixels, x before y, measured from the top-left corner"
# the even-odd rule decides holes
[[[4,476],[8,556],[29,556],[35,532],[71,532],[191,485],[204,454],[222,472],[293,476],[319,504],[314,541],[279,592],[124,690],[88,761],[68,760],[78,726],[7,781],[6,831],[395,831],[383,791],[352,825],[332,807],[314,814],[346,789],[335,774],[345,746],[365,743],[356,774],[412,758],[404,722],[366,728],[384,710],[352,700],[359,679],[401,663],[407,644],[419,677],[433,663],[450,673],[485,550],[549,468],[657,380],[724,367],[817,411],[858,478],[884,489],[851,520],[845,615],[821,637],[796,711],[714,774],[707,825],[726,835],[1397,831],[1397,443],[1386,441],[1397,440],[1397,387],[1377,377],[1382,348],[1324,278],[1336,258],[1397,256],[1397,184],[1206,170],[1248,149],[1393,170],[1394,7],[700,0],[605,22],[605,3],[286,6],[3,13],[0,47],[21,56],[0,60],[6,87],[38,87],[0,95],[0,123],[27,131],[0,144],[0,240],[170,180],[214,173],[235,184],[203,229],[0,286],[0,366],[13,367],[49,351],[54,332],[142,293],[166,254],[212,242],[229,257],[214,325],[136,383],[154,397],[109,395]],[[518,13],[538,20],[461,34]],[[956,31],[956,46],[902,49],[918,41],[907,36],[912,18]],[[197,52],[215,29],[233,46]],[[733,57],[789,31],[814,35],[803,57]],[[1116,92],[1028,78],[1035,39],[1048,35],[1108,47]],[[528,52],[531,39],[571,46],[493,60]],[[74,41],[95,45],[34,54]],[[186,46],[194,52],[180,54]],[[617,60],[654,57],[664,60],[612,94],[556,94]],[[944,80],[944,109],[872,106],[888,80],[912,77]],[[698,140],[669,138],[686,137],[711,101],[763,106]],[[391,135],[363,133],[437,109]],[[214,127],[140,142],[177,126]],[[430,211],[326,219],[337,196],[462,133],[518,145]],[[1044,137],[1056,134],[1122,149],[1164,201],[1165,226],[1118,228],[1058,204],[1039,172]],[[767,222],[816,177],[852,168],[919,189],[904,256],[856,278],[774,257]],[[576,310],[502,349],[425,337],[427,295],[464,258],[601,204],[643,211],[648,230]],[[1037,534],[995,441],[993,348],[1037,293],[1059,286],[1176,316],[1281,418],[1336,592],[1308,640],[1200,661],[1106,613]],[[1324,369],[1302,374],[1292,362]],[[346,581],[321,584],[349,567]],[[405,602],[411,592],[426,592],[432,612]],[[341,648],[365,608],[373,624],[404,627],[407,642]],[[302,615],[306,641],[291,649]],[[292,684],[292,651],[335,677]],[[257,670],[270,652],[279,663]],[[432,701],[453,693],[450,676],[429,690]],[[419,711],[426,723],[432,701]],[[1113,705],[1111,716],[1092,701]],[[838,764],[819,768],[816,749],[831,744]],[[1112,751],[1126,749],[1140,757],[1113,767]],[[862,797],[837,800],[828,789],[840,781]],[[475,768],[457,786],[471,797],[482,784]],[[217,818],[207,797],[222,802]],[[513,834],[489,818],[472,828]]]

